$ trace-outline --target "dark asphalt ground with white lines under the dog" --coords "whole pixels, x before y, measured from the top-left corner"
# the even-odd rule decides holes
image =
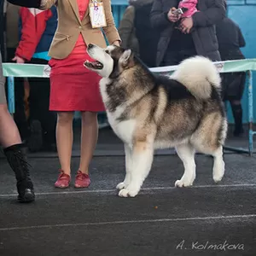
[[[246,145],[244,139],[228,143]],[[256,147],[255,147],[256,148]],[[79,166],[73,150],[73,177]],[[100,132],[89,189],[55,189],[55,153],[30,154],[37,201],[15,201],[15,179],[0,158],[1,256],[256,255],[256,154],[224,155],[221,183],[212,181],[212,158],[196,156],[191,188],[176,189],[183,165],[173,151],[156,155],[136,198],[119,198],[125,175],[122,145]],[[168,154],[170,153],[170,154]]]

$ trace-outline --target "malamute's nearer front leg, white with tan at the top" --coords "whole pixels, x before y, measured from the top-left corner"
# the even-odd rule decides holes
[[[143,181],[148,177],[154,157],[153,143],[136,142],[131,152],[131,182],[119,191],[121,197],[134,197],[140,191]]]

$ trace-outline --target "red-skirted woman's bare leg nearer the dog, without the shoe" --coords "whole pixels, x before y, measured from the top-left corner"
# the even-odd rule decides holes
[[[90,160],[96,148],[98,121],[96,112],[82,112],[81,158],[79,171],[88,174]]]

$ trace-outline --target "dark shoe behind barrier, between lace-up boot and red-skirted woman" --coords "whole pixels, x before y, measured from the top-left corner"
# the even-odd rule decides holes
[[[38,120],[32,120],[30,124],[30,137],[27,140],[27,148],[30,152],[38,152],[43,146],[43,131]]]

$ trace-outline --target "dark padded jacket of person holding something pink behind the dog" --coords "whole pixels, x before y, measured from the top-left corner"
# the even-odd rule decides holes
[[[177,8],[178,2],[178,0],[154,0],[150,20],[152,26],[160,30],[157,66],[163,60],[172,37],[174,23],[168,20],[167,14],[172,7]],[[191,32],[195,50],[198,55],[207,56],[212,61],[220,61],[215,24],[225,17],[224,0],[198,0],[197,9],[199,12],[192,17],[194,27]]]

